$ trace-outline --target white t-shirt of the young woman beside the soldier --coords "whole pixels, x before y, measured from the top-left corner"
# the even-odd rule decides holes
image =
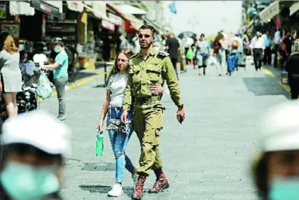
[[[123,107],[123,96],[127,86],[127,73],[117,73],[109,78],[108,89],[111,91],[110,106]]]

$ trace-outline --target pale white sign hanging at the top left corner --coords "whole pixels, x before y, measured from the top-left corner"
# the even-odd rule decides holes
[[[26,1],[9,1],[9,13],[11,15],[34,15],[35,10]]]

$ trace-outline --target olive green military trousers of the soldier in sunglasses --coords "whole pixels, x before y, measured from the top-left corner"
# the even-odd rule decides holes
[[[156,107],[134,109],[133,128],[141,146],[137,174],[148,176],[150,170],[162,168],[159,152],[162,112],[163,109]]]

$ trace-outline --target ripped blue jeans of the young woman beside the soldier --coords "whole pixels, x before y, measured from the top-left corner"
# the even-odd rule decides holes
[[[112,118],[120,119],[122,113],[122,107],[109,107],[107,125]],[[128,112],[127,120],[132,121],[132,112]],[[132,164],[130,158],[125,154],[125,148],[130,140],[132,132],[132,123],[127,129],[127,134],[109,130],[111,147],[116,158],[116,183],[123,182],[123,174],[125,169],[127,169],[127,171],[130,171],[131,174],[135,171],[134,164]]]

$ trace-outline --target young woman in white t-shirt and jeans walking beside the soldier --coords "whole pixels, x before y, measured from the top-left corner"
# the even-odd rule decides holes
[[[108,192],[109,197],[120,197],[123,195],[123,174],[124,169],[127,169],[132,174],[134,183],[137,181],[137,174],[130,160],[125,154],[125,148],[132,135],[132,123],[127,125],[120,123],[120,116],[123,114],[123,96],[125,93],[125,86],[127,86],[127,68],[128,60],[133,55],[131,49],[123,49],[116,55],[116,62],[109,71],[106,91],[106,100],[104,101],[102,114],[99,117],[99,124],[97,129],[102,132],[104,130],[104,119],[107,116],[107,130],[111,141],[111,147],[116,159],[116,183],[113,185],[111,191]],[[162,86],[153,86],[162,92]],[[128,121],[132,121],[132,112],[127,116]]]

